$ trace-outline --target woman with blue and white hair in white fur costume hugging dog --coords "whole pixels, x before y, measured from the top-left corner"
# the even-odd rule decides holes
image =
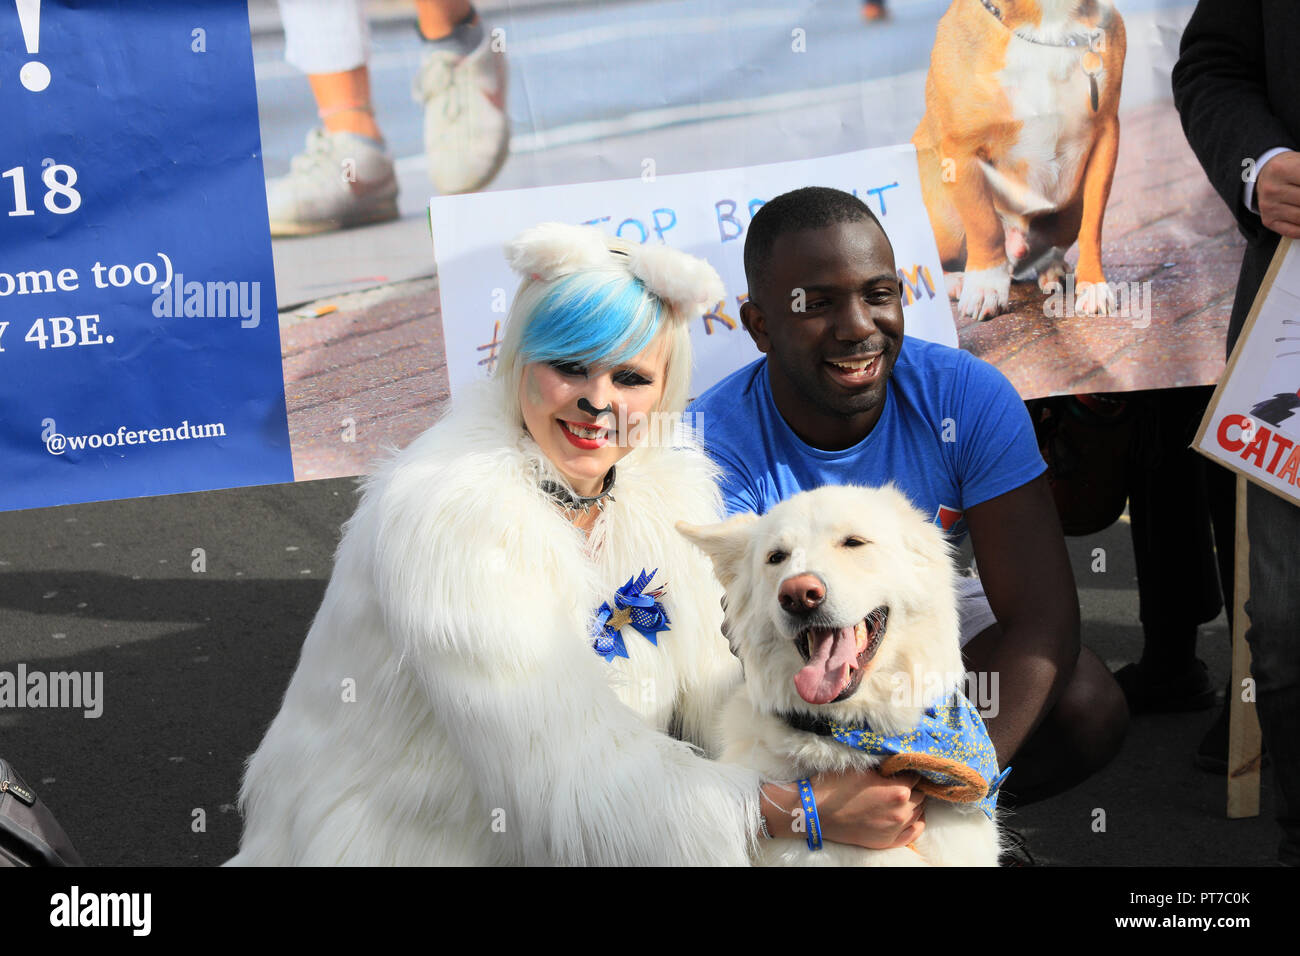
[[[559,224],[507,255],[497,373],[365,480],[234,864],[745,864],[798,835],[789,788],[705,756],[741,675],[673,529],[719,519],[715,471],[671,423],[716,272]],[[863,780],[814,783],[864,845]]]

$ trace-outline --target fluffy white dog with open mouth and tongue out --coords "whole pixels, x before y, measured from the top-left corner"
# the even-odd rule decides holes
[[[892,486],[819,488],[762,518],[677,528],[712,558],[745,666],[723,710],[722,758],[774,780],[916,770],[931,795],[910,847],[771,840],[757,862],[997,865],[996,754],[962,706],[956,571],[939,528]]]

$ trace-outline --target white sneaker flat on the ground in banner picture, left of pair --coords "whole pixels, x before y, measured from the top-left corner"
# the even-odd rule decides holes
[[[315,129],[287,176],[266,182],[270,234],[311,235],[398,217],[398,178],[382,143]]]

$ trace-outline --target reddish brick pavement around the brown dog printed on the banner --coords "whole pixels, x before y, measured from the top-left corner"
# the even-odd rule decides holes
[[[1150,282],[1149,328],[1135,317],[1049,317],[1036,284],[1013,282],[1013,311],[959,321],[958,339],[1026,398],[1209,384],[1223,371],[1243,246],[1173,107],[1131,111],[1121,116],[1102,267],[1109,282]]]

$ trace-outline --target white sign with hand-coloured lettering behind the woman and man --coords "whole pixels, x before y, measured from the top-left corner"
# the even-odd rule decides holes
[[[429,222],[452,394],[494,368],[519,285],[502,252],[506,242],[538,222],[573,222],[599,225],[632,242],[667,243],[718,269],[727,298],[692,326],[692,394],[698,395],[758,358],[740,324],[745,229],[766,200],[801,186],[857,193],[893,243],[907,334],[956,346],[916,153],[911,146],[896,146],[742,169],[434,198]]]

